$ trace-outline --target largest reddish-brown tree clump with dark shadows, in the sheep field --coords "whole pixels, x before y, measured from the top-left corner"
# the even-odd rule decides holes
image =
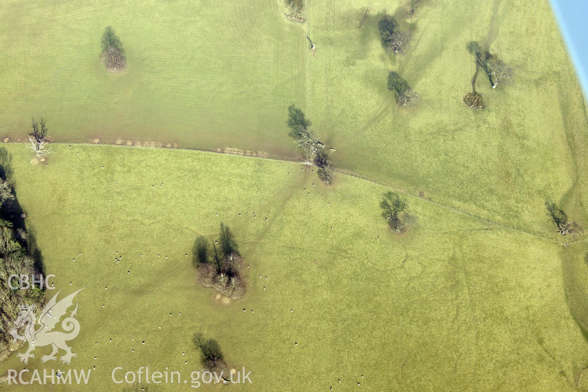
[[[196,239],[193,263],[198,268],[198,280],[202,286],[214,287],[216,291],[232,299],[245,295],[245,263],[229,227],[221,223],[219,239],[210,244],[202,236]]]

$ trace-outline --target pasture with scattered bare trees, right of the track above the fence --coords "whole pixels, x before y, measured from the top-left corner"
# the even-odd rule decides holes
[[[335,166],[413,193],[540,233],[545,199],[562,200],[588,223],[584,101],[547,0],[309,1],[310,120],[336,148]],[[523,5],[524,4],[524,5]],[[405,54],[386,52],[377,24],[395,16],[412,39]],[[493,89],[466,50],[470,41],[515,68]],[[387,89],[390,71],[419,93],[401,108]],[[483,93],[485,108],[463,105]]]

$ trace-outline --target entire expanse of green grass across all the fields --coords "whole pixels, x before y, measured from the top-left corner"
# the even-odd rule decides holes
[[[342,174],[325,187],[297,163],[55,144],[35,166],[2,145],[45,272],[64,293],[88,286],[71,367],[96,370],[80,389],[122,389],[116,366],[189,377],[202,331],[252,371],[234,390],[588,390],[588,242],[562,247],[543,204],[588,230],[586,105],[549,3],[422,0],[410,19],[403,4],[370,1],[360,29],[358,0],[309,0],[303,24],[276,0],[0,5],[2,139],[44,116],[59,142],[299,156],[285,124],[294,103],[339,169],[402,187],[417,217],[391,234],[389,189]],[[413,32],[403,56],[380,45],[386,13]],[[126,50],[121,75],[100,62],[107,25]],[[473,40],[516,69],[497,89],[477,76],[482,110],[462,103]],[[419,92],[414,108],[397,108],[389,71]],[[221,222],[250,265],[249,292],[230,304],[192,267],[194,240]],[[28,368],[59,367],[38,350]],[[23,366],[12,355],[0,374]]]

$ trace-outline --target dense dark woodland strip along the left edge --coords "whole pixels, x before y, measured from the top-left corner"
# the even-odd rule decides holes
[[[44,303],[44,290],[31,285],[29,289],[11,289],[19,286],[19,278],[10,276],[26,274],[29,279],[42,277],[42,271],[35,265],[35,260],[28,252],[29,236],[22,227],[15,227],[15,223],[6,219],[5,215],[14,218],[15,197],[11,186],[5,179],[0,179],[0,351],[11,350],[14,344],[11,331],[24,333],[25,326],[16,329],[14,322],[18,318],[19,305],[35,305],[41,311]],[[21,217],[24,214],[21,215]],[[43,278],[42,278],[43,279]]]

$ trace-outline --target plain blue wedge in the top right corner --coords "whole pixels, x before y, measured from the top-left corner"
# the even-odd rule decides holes
[[[588,96],[588,0],[551,0],[557,23]]]

